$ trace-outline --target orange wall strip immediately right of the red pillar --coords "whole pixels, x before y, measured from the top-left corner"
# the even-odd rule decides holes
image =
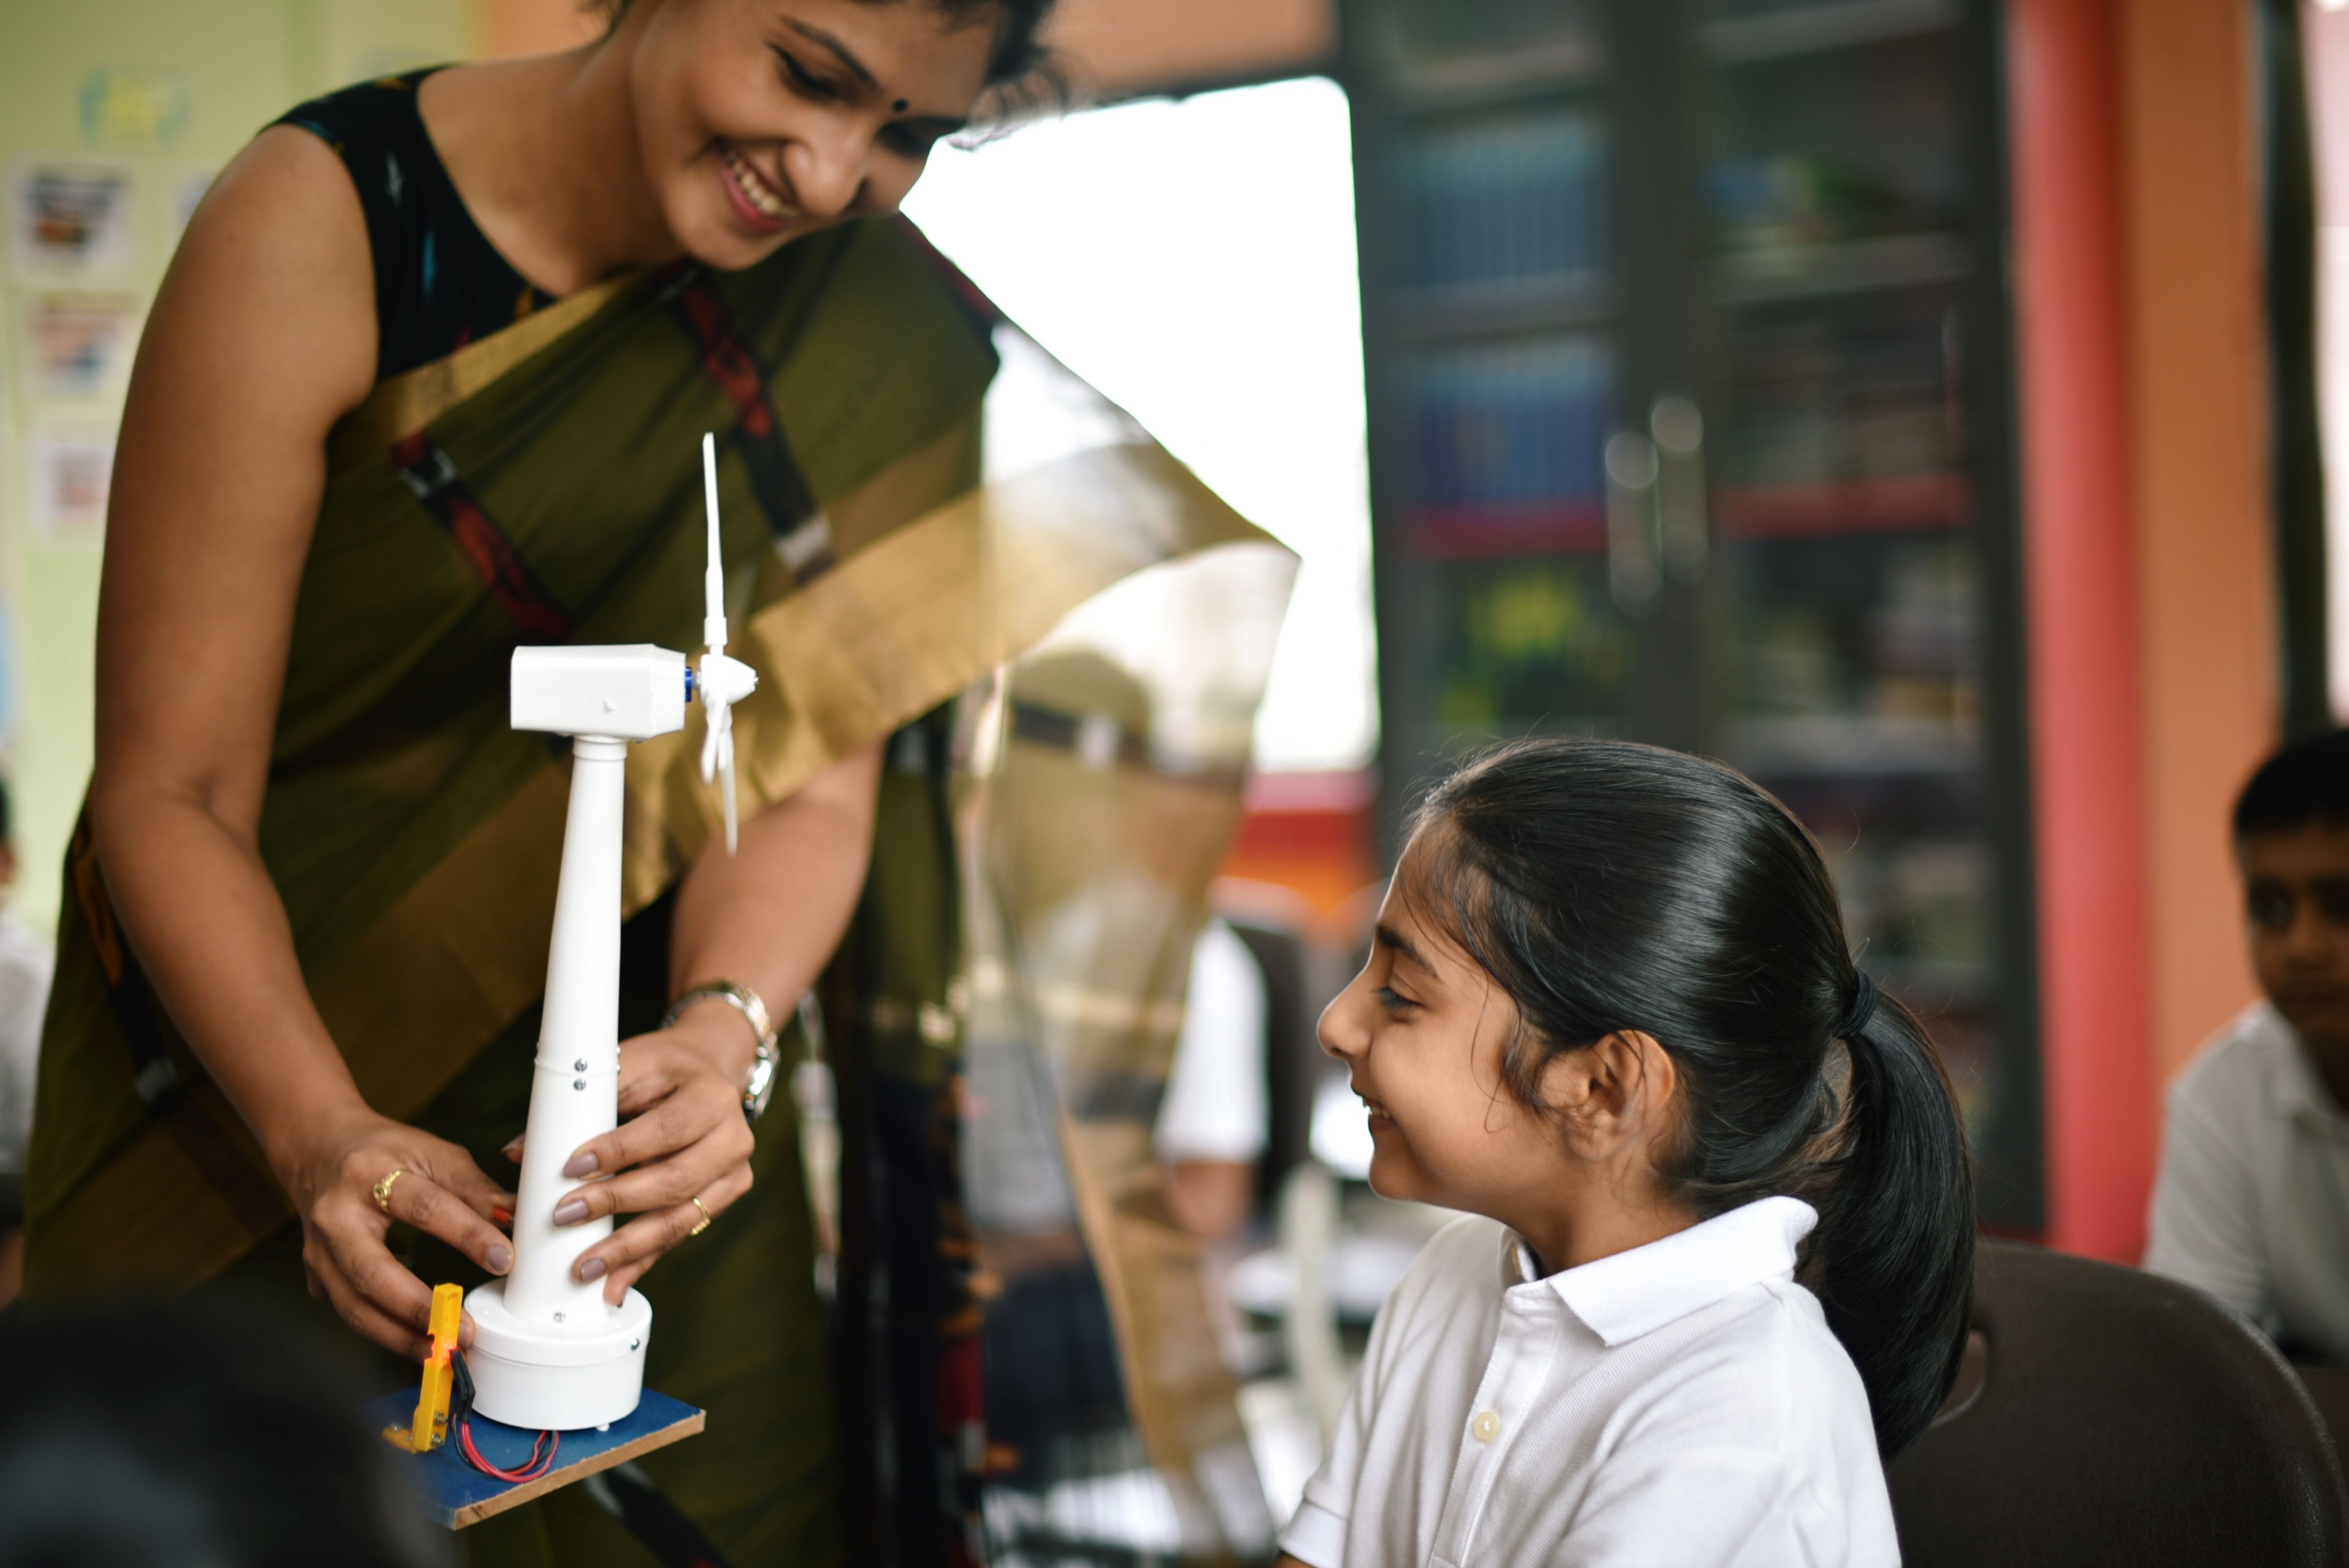
[[[2227,839],[2283,701],[2253,45],[2232,0],[2119,12],[2156,1084],[2257,994]]]

